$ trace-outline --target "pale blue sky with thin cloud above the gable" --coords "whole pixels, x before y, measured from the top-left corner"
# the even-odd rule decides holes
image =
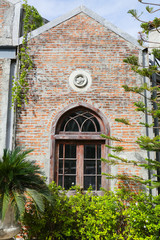
[[[159,3],[159,0],[151,2]],[[143,20],[153,19],[151,14],[146,13],[147,5],[138,0],[28,0],[28,4],[34,6],[41,16],[49,21],[84,5],[136,39],[140,31],[140,22],[127,13],[128,10],[136,9],[139,14],[143,12]]]

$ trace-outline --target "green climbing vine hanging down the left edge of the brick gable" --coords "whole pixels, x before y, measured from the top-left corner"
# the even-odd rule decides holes
[[[12,105],[16,105],[18,108],[28,102],[29,83],[27,76],[33,68],[33,61],[27,46],[29,33],[43,25],[42,17],[33,6],[27,4],[27,0],[24,0],[23,10],[23,40],[18,49],[18,73],[16,78],[13,79],[12,88]]]

